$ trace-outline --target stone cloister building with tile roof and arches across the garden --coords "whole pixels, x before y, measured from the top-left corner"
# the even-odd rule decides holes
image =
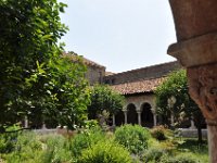
[[[95,62],[88,59],[84,61],[88,65],[87,77],[91,85],[107,84],[125,96],[123,110],[117,115],[113,115],[113,126],[122,124],[155,126],[157,116],[154,90],[168,73],[181,68],[175,61],[114,74],[105,72],[105,67]]]

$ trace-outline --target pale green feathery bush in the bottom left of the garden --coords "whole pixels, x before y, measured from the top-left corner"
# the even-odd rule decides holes
[[[8,163],[73,162],[68,139],[61,135],[38,136],[33,131],[21,134],[13,152],[3,159]]]

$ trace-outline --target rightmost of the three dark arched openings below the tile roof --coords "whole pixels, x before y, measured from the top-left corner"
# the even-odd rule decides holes
[[[149,103],[142,104],[142,113],[141,113],[141,125],[143,127],[153,127],[154,126],[154,118],[152,113],[152,106]]]

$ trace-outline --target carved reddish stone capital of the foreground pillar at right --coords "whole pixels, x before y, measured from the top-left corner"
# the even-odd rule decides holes
[[[217,125],[217,63],[188,67],[189,92],[208,125]]]

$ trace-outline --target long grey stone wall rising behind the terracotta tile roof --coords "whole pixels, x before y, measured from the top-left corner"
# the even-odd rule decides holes
[[[118,74],[113,74],[104,77],[104,83],[110,85],[137,82],[140,79],[151,79],[166,76],[169,72],[181,68],[179,62],[169,62]]]

